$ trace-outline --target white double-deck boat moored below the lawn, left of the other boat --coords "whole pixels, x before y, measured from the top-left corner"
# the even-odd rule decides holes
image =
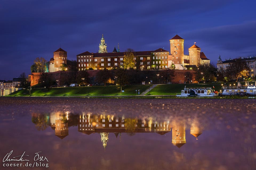
[[[177,97],[215,97],[218,96],[218,92],[211,89],[211,87],[198,87],[198,88],[184,88],[181,94],[177,94]]]

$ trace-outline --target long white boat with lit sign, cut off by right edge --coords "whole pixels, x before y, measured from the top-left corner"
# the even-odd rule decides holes
[[[240,82],[237,83],[237,86],[222,86],[223,92],[220,93],[220,96],[229,96],[229,95],[239,95],[239,96],[256,96],[256,86],[246,83],[246,85],[241,85]]]

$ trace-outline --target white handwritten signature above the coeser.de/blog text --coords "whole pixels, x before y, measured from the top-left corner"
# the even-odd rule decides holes
[[[29,160],[27,160],[27,159],[22,159],[23,158],[23,156],[25,157],[25,156],[29,156],[29,155],[25,155],[25,152],[22,154],[22,155],[20,155],[20,156],[14,156],[13,158],[16,158],[16,159],[11,159],[11,154],[13,153],[13,151],[11,151],[10,153],[7,153],[6,155],[5,155],[5,157],[3,158],[3,162],[5,162],[5,161],[29,161]],[[41,153],[41,152],[37,152],[37,153],[35,153],[35,157],[34,157],[34,161],[47,161],[47,162],[49,162],[48,160],[47,160],[47,158],[46,158],[46,156],[44,157],[44,156],[40,156],[39,155],[39,153]],[[9,158],[10,157],[10,158]],[[19,159],[18,159],[19,158]]]

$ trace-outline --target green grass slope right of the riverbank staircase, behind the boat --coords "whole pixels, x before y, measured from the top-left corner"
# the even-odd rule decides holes
[[[181,93],[181,90],[184,89],[184,87],[211,87],[214,90],[220,91],[222,85],[221,84],[160,84],[157,85],[155,88],[150,90],[146,95],[176,95],[177,93]],[[149,94],[150,93],[150,94]]]

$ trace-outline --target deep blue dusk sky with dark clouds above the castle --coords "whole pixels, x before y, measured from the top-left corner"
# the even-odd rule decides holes
[[[30,74],[36,57],[47,61],[61,44],[69,60],[98,52],[164,48],[176,33],[184,54],[196,42],[212,63],[256,55],[256,1],[34,1],[1,0],[0,80]]]

